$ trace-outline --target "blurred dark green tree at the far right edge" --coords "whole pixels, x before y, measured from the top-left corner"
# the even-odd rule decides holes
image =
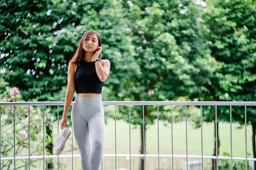
[[[191,94],[200,101],[256,101],[256,2],[254,0],[207,0],[203,19],[207,44],[218,62],[206,91]],[[215,122],[215,108],[203,114],[204,122]],[[230,108],[218,107],[218,122],[230,122]],[[232,108],[232,122],[245,123],[244,107]],[[253,128],[253,156],[256,158],[256,110],[247,108],[247,124]],[[216,127],[215,127],[216,129]],[[216,134],[216,132],[215,132]],[[218,123],[217,123],[218,136]],[[215,139],[216,140],[216,139]],[[218,138],[218,146],[220,141]],[[218,150],[219,153],[219,150]],[[216,141],[213,156],[216,156]],[[212,170],[216,169],[212,160]],[[256,170],[256,162],[254,162]]]

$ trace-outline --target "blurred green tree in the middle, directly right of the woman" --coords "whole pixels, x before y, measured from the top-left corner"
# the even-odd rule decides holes
[[[125,29],[132,38],[132,55],[140,72],[130,77],[131,86],[123,87],[121,93],[113,91],[114,96],[120,96],[121,100],[168,101],[205,91],[211,83],[209,77],[217,69],[215,58],[207,48],[204,33],[208,31],[207,26],[201,18],[206,6],[186,0],[122,1],[121,4],[130,21]],[[129,122],[127,110],[121,108],[123,114],[117,119]],[[131,123],[140,125],[141,154],[143,136],[157,119],[156,110],[157,106],[145,106],[144,127],[142,107],[131,112]],[[172,121],[168,109],[159,107],[159,110],[160,120]],[[140,169],[144,169],[143,159]]]

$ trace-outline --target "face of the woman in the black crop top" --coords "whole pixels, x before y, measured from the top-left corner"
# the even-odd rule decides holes
[[[96,49],[99,46],[99,40],[96,34],[90,34],[85,38],[83,49],[87,52],[96,52]]]

